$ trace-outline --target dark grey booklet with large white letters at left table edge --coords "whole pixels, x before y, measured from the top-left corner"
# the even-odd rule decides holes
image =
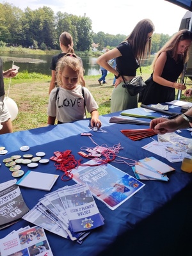
[[[13,182],[8,184],[10,184],[8,187],[1,186],[5,189],[0,191],[0,229],[19,221],[29,211],[19,186]]]

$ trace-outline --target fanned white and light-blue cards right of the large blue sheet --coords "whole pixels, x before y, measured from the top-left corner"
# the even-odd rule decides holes
[[[166,173],[172,172],[175,169],[155,157],[146,157],[138,161],[135,166],[132,166],[132,170],[136,178],[140,180],[168,181]]]

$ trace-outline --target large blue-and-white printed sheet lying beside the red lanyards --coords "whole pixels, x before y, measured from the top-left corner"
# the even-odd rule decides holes
[[[73,179],[77,183],[87,183],[93,196],[98,198],[109,209],[115,210],[132,195],[137,193],[145,184],[115,168],[111,164],[87,166],[95,161],[86,162],[86,166],[79,166],[72,170]]]

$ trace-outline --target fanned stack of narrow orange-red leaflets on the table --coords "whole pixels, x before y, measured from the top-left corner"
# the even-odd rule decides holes
[[[157,134],[152,129],[127,129],[121,130],[121,132],[126,137],[134,141],[141,140],[143,138],[147,138]]]

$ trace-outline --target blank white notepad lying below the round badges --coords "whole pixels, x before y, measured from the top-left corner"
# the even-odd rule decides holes
[[[59,175],[43,172],[28,171],[16,182],[19,186],[50,191]]]

